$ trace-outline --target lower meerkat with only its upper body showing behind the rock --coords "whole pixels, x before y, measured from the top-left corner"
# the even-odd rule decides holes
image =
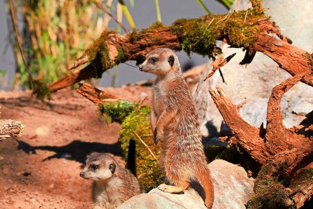
[[[131,197],[142,193],[137,178],[107,154],[90,155],[80,176],[93,181],[92,209],[115,209]]]

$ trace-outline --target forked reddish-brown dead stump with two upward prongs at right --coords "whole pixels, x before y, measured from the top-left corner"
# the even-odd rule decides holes
[[[304,128],[303,125],[299,126],[300,129],[298,126],[290,129],[284,126],[280,102],[284,93],[305,76],[304,72],[297,74],[272,89],[268,99],[265,129],[251,126],[243,120],[239,115],[238,106],[230,101],[222,89],[217,88],[219,94],[209,90],[225,123],[234,134],[236,142],[241,144],[258,163],[273,166],[277,175],[291,182],[286,193],[297,208],[303,206],[313,194],[313,139],[309,133],[306,133],[306,130],[311,129]],[[306,124],[307,127],[311,125]]]

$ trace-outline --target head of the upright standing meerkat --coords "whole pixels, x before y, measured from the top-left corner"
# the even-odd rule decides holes
[[[146,55],[146,60],[139,66],[139,70],[162,76],[169,72],[180,71],[180,65],[172,49],[157,48]]]

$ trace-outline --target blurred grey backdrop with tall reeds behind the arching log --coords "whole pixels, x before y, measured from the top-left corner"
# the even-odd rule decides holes
[[[70,73],[67,65],[105,29],[121,34],[142,29],[156,21],[170,25],[178,18],[225,14],[233,0],[1,0],[0,89],[25,90],[29,86],[17,34],[34,79],[47,84]],[[227,8],[228,7],[228,8]],[[110,15],[113,16],[113,20]],[[14,26],[16,25],[16,30]],[[17,32],[18,30],[18,32]],[[178,53],[183,70],[203,64],[206,57]],[[135,66],[135,62],[127,62]],[[106,71],[96,86],[121,86],[153,78],[137,68],[120,64]]]

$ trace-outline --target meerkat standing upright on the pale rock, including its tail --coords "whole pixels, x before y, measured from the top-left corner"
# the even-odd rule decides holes
[[[198,110],[183,78],[178,57],[169,48],[157,48],[146,55],[139,70],[156,74],[151,127],[155,143],[162,142],[160,166],[170,184],[157,188],[179,193],[200,183],[204,204],[211,208],[214,190],[201,141]]]

